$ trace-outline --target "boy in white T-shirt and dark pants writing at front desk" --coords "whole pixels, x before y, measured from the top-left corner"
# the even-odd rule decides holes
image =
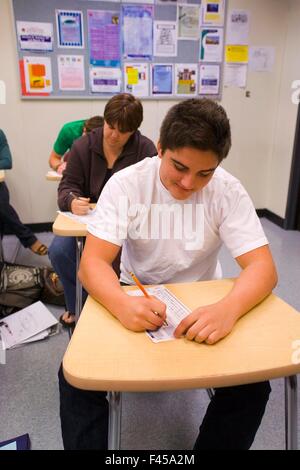
[[[169,110],[162,123],[158,156],[120,171],[102,191],[88,225],[79,277],[87,292],[125,328],[160,328],[166,306],[154,297],[132,297],[122,290],[112,269],[121,247],[120,280],[125,284],[133,283],[131,271],[144,284],[219,278],[218,253],[223,243],[237,261],[241,273],[231,292],[188,314],[177,326],[176,338],[185,336],[213,345],[271,293],[277,275],[260,221],[241,183],[220,168],[230,146],[229,120],[220,105],[208,99],[182,101]],[[120,201],[127,202],[127,211]],[[151,216],[158,207],[161,218],[151,227]],[[177,217],[170,224],[173,229],[169,236],[164,232],[157,239],[172,212]],[[193,227],[186,233],[192,221]],[[62,369],[59,383],[65,448],[105,449],[106,393],[72,387]],[[249,449],[269,393],[269,382],[216,389],[195,450]]]

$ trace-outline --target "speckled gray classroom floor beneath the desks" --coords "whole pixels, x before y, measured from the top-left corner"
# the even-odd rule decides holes
[[[300,311],[300,232],[283,231],[265,219],[262,222],[279,271],[275,292]],[[40,234],[44,243],[49,244],[51,238],[50,233]],[[5,237],[4,249],[8,260],[16,257],[24,264],[47,263],[44,257],[20,247],[14,237]],[[221,263],[224,277],[238,273],[225,249]],[[49,308],[57,317],[62,312]],[[56,374],[67,344],[68,335],[62,331],[7,352],[7,364],[0,365],[0,441],[29,433],[33,449],[62,449]],[[122,448],[191,449],[207,404],[204,390],[124,394]],[[283,380],[272,381],[271,398],[252,448],[284,449]]]

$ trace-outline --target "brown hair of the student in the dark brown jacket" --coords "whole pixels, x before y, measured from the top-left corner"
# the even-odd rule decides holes
[[[129,93],[113,96],[105,106],[104,120],[120,132],[136,131],[143,121],[143,106]]]

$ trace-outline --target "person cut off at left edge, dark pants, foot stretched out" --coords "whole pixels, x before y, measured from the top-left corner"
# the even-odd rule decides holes
[[[12,158],[4,132],[0,129],[0,170],[10,170]],[[18,237],[25,248],[44,256],[48,253],[46,245],[41,243],[30,228],[22,224],[15,209],[9,203],[9,191],[4,182],[0,183],[0,229],[7,227]]]

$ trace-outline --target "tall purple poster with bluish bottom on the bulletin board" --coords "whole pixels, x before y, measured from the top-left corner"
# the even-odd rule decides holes
[[[120,14],[116,11],[88,10],[90,64],[120,67]]]

